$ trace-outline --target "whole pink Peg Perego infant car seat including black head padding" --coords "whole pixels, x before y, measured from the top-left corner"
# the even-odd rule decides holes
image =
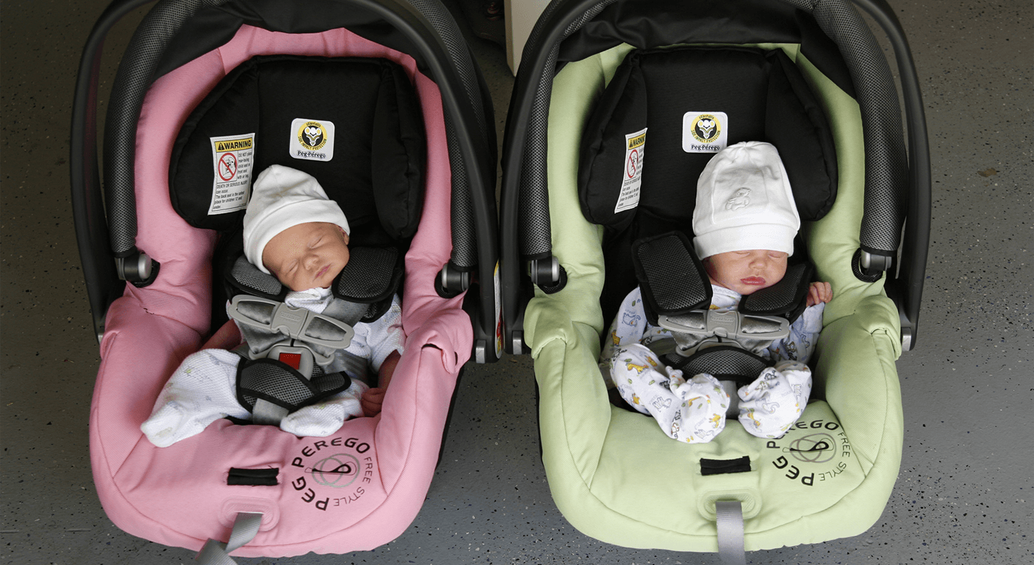
[[[486,284],[495,264],[491,108],[469,54],[435,2],[160,2],[116,81],[105,220],[92,161],[91,72],[98,37],[139,4],[114,4],[91,37],[73,131],[77,230],[103,329],[90,430],[104,509],[129,533],[193,549],[226,540],[239,514],[261,514],[253,539],[234,552],[241,556],[386,543],[424,500],[460,365],[475,349],[463,297],[435,290],[443,265],[476,273],[482,287],[473,302],[494,310]],[[266,65],[278,70],[268,75]],[[342,65],[358,70],[329,87]],[[213,94],[219,87],[230,96]],[[245,92],[255,95],[237,96]],[[140,424],[210,333],[211,313],[223,310],[221,269],[239,249],[246,180],[274,163],[327,187],[357,248],[404,255],[406,352],[384,410],[327,438],[221,420],[156,448]],[[149,269],[138,249],[160,268]],[[124,292],[113,256],[127,277],[140,275]],[[491,357],[494,318],[481,319],[487,324],[476,333]]]

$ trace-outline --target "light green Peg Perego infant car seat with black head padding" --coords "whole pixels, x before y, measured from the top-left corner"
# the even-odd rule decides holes
[[[889,73],[866,77],[852,66],[850,51],[865,46],[838,26],[845,13],[857,18],[853,8],[798,4],[554,2],[522,58],[509,120],[529,126],[508,128],[503,264],[551,268],[533,271],[539,288],[526,307],[519,299],[530,286],[504,270],[504,295],[512,300],[506,344],[536,359],[550,488],[565,516],[592,537],[696,552],[735,546],[737,530],[740,552],[816,542],[864,531],[893,485],[901,340],[898,307],[883,287],[914,285],[921,273],[915,277],[909,263],[899,279],[861,280],[852,257],[884,244],[894,255],[889,249],[899,244],[874,245],[862,228],[889,218],[886,231],[898,233],[908,208],[896,188],[877,196],[871,186],[908,179],[903,143],[891,139],[900,139],[899,113],[893,102],[889,122],[870,122],[882,111],[864,98],[886,87],[878,79]],[[680,57],[699,64],[668,64]],[[921,111],[917,120],[921,125]],[[893,136],[881,137],[891,125]],[[921,170],[925,141],[916,135]],[[818,343],[813,402],[789,434],[763,440],[730,422],[709,443],[680,444],[650,418],[608,402],[600,339],[617,301],[637,284],[633,242],[668,231],[690,235],[708,149],[739,141],[780,150],[805,221],[799,240],[834,298]],[[921,202],[924,190],[929,183],[918,182],[901,192]],[[929,210],[916,209],[909,225],[920,236],[907,246],[918,249],[905,251],[905,261],[925,249]],[[878,212],[863,221],[871,210]],[[558,265],[550,265],[553,258]],[[549,276],[561,269],[562,287]],[[914,298],[900,303],[917,307]]]

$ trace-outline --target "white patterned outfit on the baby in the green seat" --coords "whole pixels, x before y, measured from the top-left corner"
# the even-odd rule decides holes
[[[735,310],[740,295],[711,285],[711,309]],[[804,364],[822,330],[825,304],[809,306],[783,340],[740,339],[744,349],[776,360],[750,385],[740,387],[739,421],[752,435],[778,438],[803,411],[812,391],[811,369]],[[729,394],[706,374],[687,379],[681,370],[664,366],[662,355],[675,350],[671,332],[646,321],[642,294],[637,287],[621,302],[600,355],[608,386],[643,414],[653,416],[669,437],[687,443],[712,440],[725,428]]]

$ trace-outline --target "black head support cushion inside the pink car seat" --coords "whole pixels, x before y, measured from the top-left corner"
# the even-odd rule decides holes
[[[391,245],[420,221],[426,146],[416,91],[387,59],[258,56],[191,113],[173,149],[170,197],[191,226],[229,233],[271,165],[312,175],[352,242]]]

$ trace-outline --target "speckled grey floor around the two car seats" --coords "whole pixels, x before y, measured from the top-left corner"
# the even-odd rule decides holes
[[[80,52],[105,4],[4,0],[0,6],[3,563],[165,565],[193,557],[118,530],[90,475],[87,420],[99,358],[72,234],[67,145]],[[865,534],[751,554],[752,563],[1034,562],[1034,446],[1023,433],[1034,416],[1034,4],[893,4],[918,66],[934,178],[921,333],[917,349],[898,362],[905,404],[901,475]],[[133,27],[134,21],[120,25],[108,50],[121,53]],[[474,41],[501,140],[513,79],[501,48]],[[105,61],[105,83],[113,61]],[[445,457],[404,534],[373,552],[239,561],[719,562],[582,535],[553,505],[538,442],[530,358],[468,365]]]

